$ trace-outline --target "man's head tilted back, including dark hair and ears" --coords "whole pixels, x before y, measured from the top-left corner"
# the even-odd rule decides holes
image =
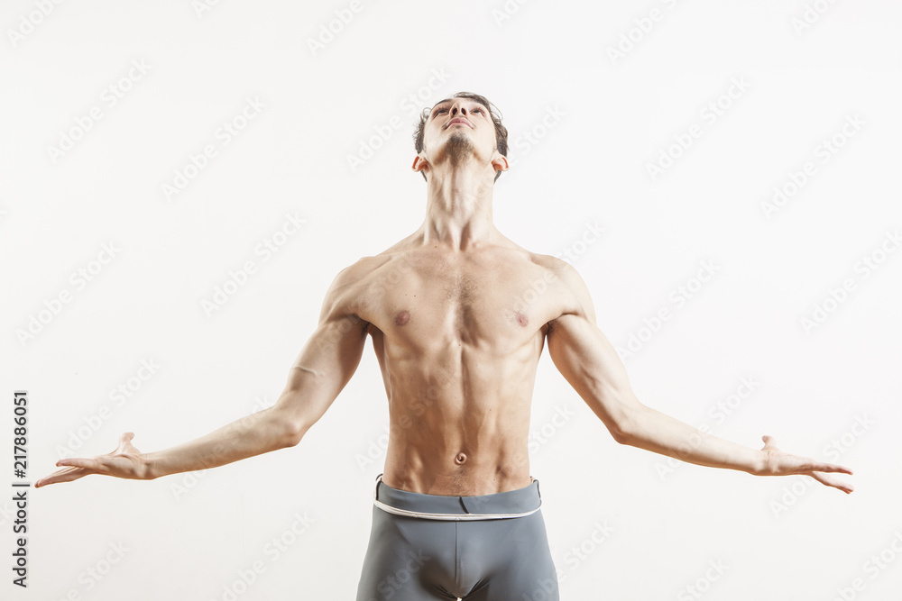
[[[451,123],[455,119],[465,123]],[[423,109],[413,141],[422,161],[428,162],[429,151],[440,150],[448,162],[456,166],[474,152],[493,163],[499,159],[495,153],[506,158],[507,135],[501,113],[488,99],[470,92],[458,92],[437,102],[431,109]],[[417,166],[415,161],[414,168]],[[421,163],[418,170],[423,179],[427,179]],[[496,168],[495,180],[501,174],[502,169]]]

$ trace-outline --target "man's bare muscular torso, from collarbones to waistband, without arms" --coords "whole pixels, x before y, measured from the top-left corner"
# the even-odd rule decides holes
[[[548,323],[580,311],[556,261],[510,241],[457,252],[402,241],[355,264],[342,298],[368,323],[382,369],[388,486],[473,496],[529,485]]]

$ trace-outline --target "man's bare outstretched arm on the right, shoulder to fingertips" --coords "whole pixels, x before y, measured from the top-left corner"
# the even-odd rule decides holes
[[[779,451],[769,436],[762,437],[762,449],[750,449],[640,403],[620,356],[595,325],[583,279],[563,261],[557,272],[562,294],[572,301],[566,313],[549,323],[548,354],[615,441],[697,465],[739,469],[756,476],[806,474],[851,493],[850,485],[833,476],[836,472],[851,474],[851,469]]]

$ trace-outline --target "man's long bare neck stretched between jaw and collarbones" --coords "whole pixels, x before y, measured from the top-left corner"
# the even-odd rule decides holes
[[[468,167],[473,165],[429,173],[426,219],[418,231],[424,246],[472,250],[501,237],[492,223],[494,171]]]

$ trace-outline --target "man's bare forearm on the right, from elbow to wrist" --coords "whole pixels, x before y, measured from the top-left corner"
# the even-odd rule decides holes
[[[618,442],[667,457],[711,468],[738,469],[759,474],[764,469],[761,451],[701,432],[688,423],[640,405],[630,412]]]

